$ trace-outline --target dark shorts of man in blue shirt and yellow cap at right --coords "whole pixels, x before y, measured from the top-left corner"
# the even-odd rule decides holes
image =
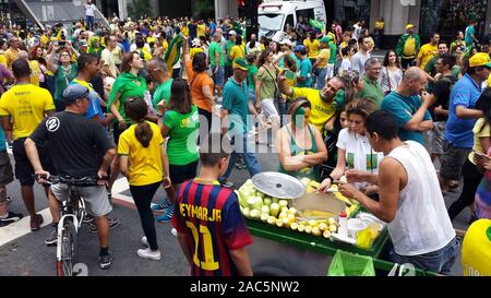
[[[459,180],[462,167],[469,158],[472,148],[455,147],[445,140],[443,141],[443,151],[440,176],[446,180]]]

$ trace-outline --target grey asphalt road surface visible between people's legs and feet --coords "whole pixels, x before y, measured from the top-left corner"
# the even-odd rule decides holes
[[[266,150],[265,147],[262,147]],[[268,148],[271,150],[271,148]],[[259,160],[263,171],[276,171],[278,158],[273,153],[259,154]],[[12,158],[13,163],[13,158]],[[247,169],[233,170],[230,181],[241,186],[249,178]],[[101,271],[98,267],[98,241],[96,234],[91,234],[87,226],[82,226],[79,233],[79,262],[87,266],[91,276],[185,276],[189,274],[189,265],[180,250],[177,238],[171,235],[171,224],[156,224],[157,238],[163,251],[163,260],[148,261],[136,255],[141,248],[143,230],[134,205],[129,203],[131,194],[124,189],[124,179],[120,180],[119,193],[113,193],[115,208],[111,217],[120,219],[121,225],[110,233],[110,251],[113,264],[110,270]],[[8,193],[13,198],[10,210],[25,214],[21,199],[20,184],[14,181],[8,187]],[[47,200],[40,187],[35,187],[36,210],[47,212]],[[164,195],[160,189],[154,198],[157,202]],[[451,204],[457,194],[446,195],[446,204]],[[455,220],[458,229],[467,229],[467,220],[470,217],[469,210],[464,211]],[[45,238],[51,231],[50,217],[45,216],[45,227],[39,231],[28,231],[28,218],[0,227],[0,276],[53,276],[56,275],[56,248],[47,247]],[[23,236],[15,236],[20,230],[26,230]],[[13,238],[12,238],[13,237]],[[12,239],[8,241],[7,239]],[[8,242],[7,242],[7,241]],[[253,255],[252,255],[253,258]],[[460,261],[454,266],[454,275],[462,274]]]

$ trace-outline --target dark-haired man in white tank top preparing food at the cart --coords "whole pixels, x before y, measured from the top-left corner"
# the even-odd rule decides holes
[[[380,202],[351,184],[340,192],[359,201],[388,223],[394,248],[392,261],[450,274],[458,252],[455,230],[446,212],[436,171],[430,155],[418,142],[403,142],[397,122],[387,111],[375,111],[366,120],[367,136],[375,152],[383,152],[379,175],[348,171],[352,182],[370,182],[380,188]]]

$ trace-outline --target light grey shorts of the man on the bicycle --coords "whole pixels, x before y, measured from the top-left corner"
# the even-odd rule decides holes
[[[105,186],[76,188],[80,196],[84,199],[85,207],[92,216],[104,216],[112,211],[112,206],[107,199]],[[69,187],[67,184],[53,184],[51,191],[58,201],[67,201],[69,198]]]

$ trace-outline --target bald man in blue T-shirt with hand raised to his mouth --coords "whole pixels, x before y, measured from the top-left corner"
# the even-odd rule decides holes
[[[424,144],[423,132],[433,129],[428,108],[435,97],[424,86],[428,76],[419,68],[409,68],[404,74],[400,86],[385,96],[382,110],[391,112],[399,126],[399,138],[403,141],[416,141]]]

